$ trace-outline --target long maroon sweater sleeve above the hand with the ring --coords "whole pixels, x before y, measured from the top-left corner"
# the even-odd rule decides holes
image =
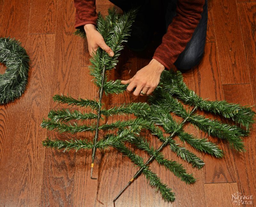
[[[204,0],[179,0],[172,23],[153,58],[170,70],[191,39],[203,12]]]

